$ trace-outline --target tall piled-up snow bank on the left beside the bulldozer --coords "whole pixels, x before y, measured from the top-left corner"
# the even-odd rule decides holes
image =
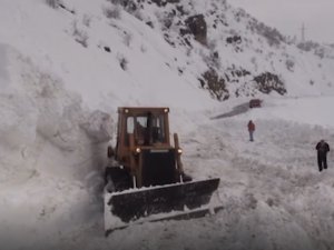
[[[9,46],[0,51],[1,246],[43,249],[101,209],[114,121]]]

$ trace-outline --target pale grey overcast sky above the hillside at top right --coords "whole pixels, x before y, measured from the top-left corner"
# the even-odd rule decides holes
[[[334,43],[334,0],[229,0],[287,36]]]

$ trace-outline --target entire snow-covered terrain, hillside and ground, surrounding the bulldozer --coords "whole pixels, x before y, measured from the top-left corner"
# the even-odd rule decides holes
[[[333,48],[301,50],[223,0],[1,0],[0,23],[0,249],[333,249],[334,158],[320,174],[314,150],[334,141]],[[264,107],[212,119],[250,97]],[[119,106],[170,107],[222,212],[104,237]]]

